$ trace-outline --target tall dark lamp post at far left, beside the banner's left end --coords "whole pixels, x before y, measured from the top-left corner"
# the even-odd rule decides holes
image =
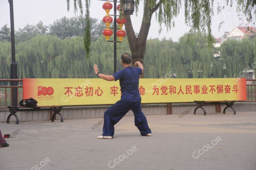
[[[15,41],[14,41],[14,17],[13,17],[13,0],[8,0],[10,4],[11,18],[11,44],[12,44],[12,63],[11,63],[11,79],[17,79],[17,63],[15,61]],[[11,86],[17,86],[17,81],[12,81]],[[17,88],[12,88],[12,106],[17,106]]]

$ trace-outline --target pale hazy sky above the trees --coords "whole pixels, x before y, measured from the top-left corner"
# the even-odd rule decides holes
[[[13,0],[14,1],[14,27],[15,30],[19,28],[23,28],[27,23],[29,24],[37,24],[38,21],[42,21],[43,24],[49,25],[54,22],[56,19],[60,19],[63,16],[73,17],[75,16],[73,10],[73,0],[71,1],[70,11],[67,12],[67,4],[66,0]],[[218,1],[221,6],[224,5],[224,1]],[[90,16],[92,18],[98,18],[101,20],[106,14],[102,9],[102,4],[104,1],[91,0],[91,8],[90,8]],[[85,3],[83,1],[85,6]],[[214,2],[215,8],[217,6],[217,1]],[[138,16],[136,17],[135,13],[132,16],[132,23],[135,32],[139,32],[140,25],[142,21],[142,5],[140,6],[140,10]],[[111,10],[113,13],[113,9]],[[174,20],[175,27],[172,28],[169,32],[166,31],[163,26],[163,31],[159,35],[158,34],[158,23],[155,19],[155,15],[152,18],[151,28],[149,31],[148,38],[160,38],[166,37],[167,39],[172,38],[173,41],[178,41],[179,37],[181,37],[184,33],[189,31],[189,27],[185,25],[184,20],[184,9],[182,8],[180,11],[180,15]],[[219,23],[221,20],[225,22],[221,27],[220,31],[218,30]],[[226,7],[221,15],[217,15],[217,11],[215,11],[215,16],[212,19],[212,33],[215,37],[220,37],[224,34],[224,31],[230,31],[234,26],[239,26],[240,23],[246,24],[246,20],[240,21],[236,8],[228,8]],[[8,0],[0,0],[0,28],[8,24],[10,27],[10,11],[9,11],[9,3]],[[253,26],[250,24],[250,26]]]

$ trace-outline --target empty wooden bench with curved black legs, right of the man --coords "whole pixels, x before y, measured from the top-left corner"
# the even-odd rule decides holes
[[[235,108],[233,108],[233,104],[234,102],[237,102],[237,101],[234,101],[234,100],[224,100],[224,101],[194,101],[194,103],[197,105],[197,107],[195,108],[194,110],[194,115],[196,114],[196,110],[201,108],[204,112],[204,115],[206,115],[206,111],[205,109],[203,108],[203,106],[205,105],[226,105],[226,107],[224,108],[223,110],[223,114],[226,114],[226,109],[227,108],[231,108],[234,112],[234,115],[236,114],[236,110]]]

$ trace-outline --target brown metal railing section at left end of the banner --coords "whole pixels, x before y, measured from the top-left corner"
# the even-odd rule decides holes
[[[23,80],[22,79],[0,79],[0,82],[11,82],[11,81],[22,82]],[[11,106],[12,106],[12,89],[13,88],[17,88],[17,103],[19,103],[19,98],[18,98],[19,88],[23,88],[23,86],[0,86],[0,109],[7,108],[7,105],[8,105],[7,101],[10,101]],[[2,93],[1,89],[4,89],[4,93]],[[10,89],[10,90],[8,90],[8,89]],[[2,103],[1,101],[3,101],[3,98],[5,99],[4,106],[2,106],[2,104],[1,104]]]

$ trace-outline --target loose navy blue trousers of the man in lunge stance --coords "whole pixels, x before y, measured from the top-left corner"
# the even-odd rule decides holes
[[[141,102],[118,101],[104,113],[103,136],[114,136],[114,125],[117,124],[129,111],[134,113],[135,126],[140,130],[140,134],[145,136],[151,133],[147,119],[141,111]]]

